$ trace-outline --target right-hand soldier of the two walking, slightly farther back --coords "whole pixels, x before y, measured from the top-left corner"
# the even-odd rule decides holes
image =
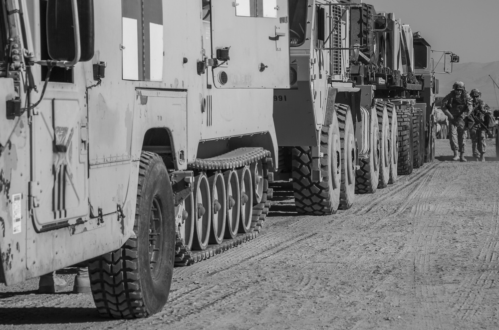
[[[485,138],[487,131],[483,124],[485,124],[485,115],[492,114],[491,108],[480,99],[482,93],[478,89],[473,89],[470,93],[473,99],[473,112],[470,116],[473,119],[470,129],[471,141],[473,145],[473,156],[477,161],[485,162],[486,144]]]

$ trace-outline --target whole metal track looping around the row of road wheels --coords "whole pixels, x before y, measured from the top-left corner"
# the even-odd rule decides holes
[[[176,236],[175,247],[175,267],[185,267],[193,265],[197,262],[209,259],[216,254],[227,251],[233,247],[243,244],[258,236],[261,230],[263,221],[269,212],[270,201],[272,198],[272,189],[268,188],[268,168],[271,166],[272,159],[266,159],[270,156],[270,152],[262,148],[240,148],[222,156],[196,160],[192,166],[196,169],[230,169],[237,168],[245,165],[250,165],[253,162],[262,160],[263,166],[263,194],[261,203],[253,206],[250,230],[246,234],[238,234],[233,239],[224,239],[221,244],[208,245],[204,251],[190,251],[184,242],[184,239]]]

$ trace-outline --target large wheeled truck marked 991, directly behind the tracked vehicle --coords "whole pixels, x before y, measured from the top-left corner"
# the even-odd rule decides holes
[[[274,92],[274,176],[292,178],[300,213],[347,209],[355,193],[373,193],[398,175],[395,108],[376,99],[374,85],[352,79],[359,56],[371,61],[370,43],[387,28],[384,17],[365,8],[350,1],[289,0],[291,89]],[[366,17],[378,25],[368,29]]]

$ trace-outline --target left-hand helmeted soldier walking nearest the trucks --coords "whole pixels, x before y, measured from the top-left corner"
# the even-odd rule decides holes
[[[456,81],[453,90],[442,100],[442,110],[449,118],[449,140],[451,149],[454,151],[453,161],[466,162],[465,140],[466,131],[465,118],[473,111],[473,101],[465,90],[462,81]],[[458,150],[460,156],[458,156]]]

